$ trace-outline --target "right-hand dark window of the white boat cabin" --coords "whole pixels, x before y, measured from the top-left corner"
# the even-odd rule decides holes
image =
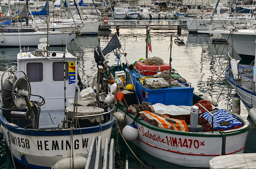
[[[53,80],[54,81],[61,81],[64,80],[64,66],[63,62],[53,62]],[[66,62],[65,66],[66,72],[66,80],[68,80],[68,62]]]

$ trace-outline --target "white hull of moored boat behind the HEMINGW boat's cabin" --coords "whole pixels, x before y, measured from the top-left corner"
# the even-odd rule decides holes
[[[4,42],[0,42],[0,46],[37,46],[39,39],[42,37],[47,38],[47,33],[44,31],[33,33],[4,33]],[[75,33],[49,33],[50,45],[66,45],[75,37]],[[20,41],[19,41],[20,39]]]

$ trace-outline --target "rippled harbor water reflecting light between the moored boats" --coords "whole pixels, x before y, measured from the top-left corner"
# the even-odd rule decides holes
[[[225,44],[212,43],[211,39],[205,34],[189,34],[186,29],[182,30],[179,35],[183,38],[185,45],[176,45],[173,43],[172,52],[168,50],[170,46],[171,33],[177,35],[177,30],[154,30],[151,29],[151,45],[152,52],[148,52],[148,57],[158,56],[168,63],[170,56],[172,57],[172,67],[178,70],[187,81],[192,83],[195,91],[205,93],[209,98],[219,102],[223,107],[232,109],[232,96],[235,90],[228,85],[224,75],[224,69],[228,64],[228,50],[233,58],[239,60],[237,53],[232,53],[232,48]],[[91,83],[88,81],[86,72],[91,77],[97,72],[97,64],[94,61],[94,46],[97,48],[99,44],[103,49],[112,35],[116,32],[115,29],[101,30],[96,36],[79,36],[67,44],[67,50],[73,55],[77,56],[79,75],[84,83]],[[129,63],[137,61],[139,58],[145,58],[146,53],[146,29],[120,29],[119,39],[122,43],[121,51],[127,52],[127,60]],[[173,41],[176,37],[173,37]],[[27,49],[27,47],[25,48]],[[30,47],[29,51],[35,50],[36,47]],[[24,48],[22,48],[24,50]],[[50,46],[50,50],[65,51],[66,47]],[[2,74],[9,67],[16,64],[17,53],[20,51],[19,47],[0,48],[0,74]],[[113,53],[108,54],[107,59],[109,65],[117,64],[116,56]],[[121,56],[121,61],[126,62],[124,56]],[[241,103],[241,115],[249,120],[251,123],[247,140],[245,143],[245,153],[256,152],[255,145],[255,124],[253,124],[248,113]],[[120,135],[116,135],[115,128],[112,131],[112,137],[117,142],[116,151],[116,168],[125,167],[125,160],[129,161],[129,168],[144,168],[143,165],[136,159],[133,153],[129,150]],[[234,140],[235,141],[235,140]],[[186,168],[184,166],[165,162],[157,159],[151,154],[141,150],[132,142],[128,141],[129,146],[137,157],[148,168]],[[220,145],[221,146],[221,145]],[[6,143],[0,140],[0,168],[14,168],[12,158],[8,152]],[[17,166],[20,168],[20,166]]]

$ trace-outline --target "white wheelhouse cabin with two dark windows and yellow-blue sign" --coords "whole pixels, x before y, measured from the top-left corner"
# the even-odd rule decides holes
[[[65,81],[64,60],[65,58]],[[31,93],[45,99],[41,109],[64,109],[64,82],[66,87],[67,106],[69,99],[74,99],[77,86],[77,60],[68,52],[44,52],[36,49],[17,55],[17,69],[24,71],[31,85]],[[19,73],[23,76],[24,74]],[[79,93],[78,93],[79,95]],[[38,97],[31,96],[31,100]]]

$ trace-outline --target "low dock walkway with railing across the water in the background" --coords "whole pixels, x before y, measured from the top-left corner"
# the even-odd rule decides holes
[[[186,20],[104,20],[100,24],[100,29],[106,28],[146,28],[150,26],[151,29],[174,29],[179,30],[181,26],[186,26]]]

